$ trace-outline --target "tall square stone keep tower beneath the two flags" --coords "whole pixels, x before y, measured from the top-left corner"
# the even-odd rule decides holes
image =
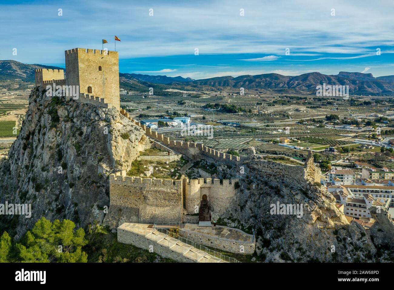
[[[65,51],[66,86],[79,86],[80,94],[104,99],[120,111],[119,56],[117,51],[70,49]]]

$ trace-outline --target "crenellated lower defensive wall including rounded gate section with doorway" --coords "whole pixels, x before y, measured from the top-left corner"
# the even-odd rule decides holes
[[[126,170],[110,174],[110,208],[105,223],[114,225],[123,217],[182,222],[185,215],[199,212],[206,195],[212,215],[221,215],[235,195],[236,180],[211,178],[189,180],[152,179],[126,176]],[[196,208],[197,206],[197,208]],[[190,221],[186,219],[185,221]]]

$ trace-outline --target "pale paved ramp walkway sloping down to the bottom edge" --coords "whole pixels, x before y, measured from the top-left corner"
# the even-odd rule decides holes
[[[183,254],[187,258],[194,260],[197,263],[227,263],[219,258],[211,256],[204,251],[200,251],[191,245],[183,243],[178,239],[169,237],[166,234],[158,232],[153,228],[153,225],[149,224],[137,224],[137,223],[123,223],[118,228],[145,236],[145,238],[156,241],[159,245],[168,247],[169,249]]]

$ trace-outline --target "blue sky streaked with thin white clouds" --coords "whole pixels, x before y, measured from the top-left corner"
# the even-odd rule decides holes
[[[2,0],[0,59],[64,67],[65,50],[100,49],[103,38],[113,50],[116,35],[123,73],[203,79],[351,71],[378,77],[394,75],[393,15],[392,0]]]

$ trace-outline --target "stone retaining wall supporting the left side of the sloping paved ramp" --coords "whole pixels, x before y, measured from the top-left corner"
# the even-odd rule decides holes
[[[194,260],[185,257],[181,253],[175,252],[169,249],[166,246],[159,245],[156,241],[152,241],[151,239],[145,238],[145,236],[141,236],[139,234],[129,232],[127,230],[123,230],[121,228],[117,229],[117,236],[119,243],[125,243],[129,245],[134,245],[141,249],[145,249],[149,251],[149,246],[153,246],[153,251],[164,258],[173,259],[180,263],[193,263]]]

